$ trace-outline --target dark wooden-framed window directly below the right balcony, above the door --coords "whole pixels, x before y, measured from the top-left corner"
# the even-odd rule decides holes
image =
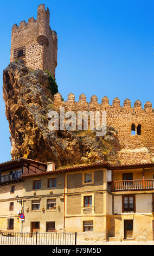
[[[123,195],[123,212],[134,211],[135,212],[135,195],[124,196]]]

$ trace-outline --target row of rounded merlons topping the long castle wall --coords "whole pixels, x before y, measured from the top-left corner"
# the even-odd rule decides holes
[[[120,105],[120,100],[118,97],[113,99],[112,105],[109,104],[109,99],[107,96],[104,96],[101,100],[101,103],[98,103],[98,97],[93,95],[91,96],[91,101],[87,102],[87,97],[85,94],[81,94],[79,96],[79,101],[75,101],[75,95],[73,93],[68,94],[68,99],[67,101],[62,101],[62,95],[60,93],[56,93],[54,95],[54,106],[65,106],[68,108],[71,105],[71,108],[74,108],[74,110],[78,110],[79,105],[83,107],[84,104],[84,110],[85,108],[89,111],[91,110],[91,107],[95,107],[96,110],[101,111],[102,109],[107,109],[107,108],[118,108],[118,109],[130,109],[130,111],[146,111],[146,112],[151,112],[154,113],[154,108],[152,109],[152,103],[150,101],[147,101],[144,104],[144,108],[142,108],[142,102],[139,100],[136,100],[134,102],[133,107],[131,107],[131,101],[129,99],[124,100],[123,106]]]

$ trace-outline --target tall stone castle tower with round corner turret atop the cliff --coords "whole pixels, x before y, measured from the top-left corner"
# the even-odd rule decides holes
[[[57,34],[49,25],[49,9],[40,4],[37,20],[34,17],[12,27],[10,62],[16,58],[25,61],[32,70],[48,70],[55,77],[57,66]]]

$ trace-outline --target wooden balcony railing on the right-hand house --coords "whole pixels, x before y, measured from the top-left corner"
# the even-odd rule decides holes
[[[113,181],[112,190],[154,190],[154,179]]]

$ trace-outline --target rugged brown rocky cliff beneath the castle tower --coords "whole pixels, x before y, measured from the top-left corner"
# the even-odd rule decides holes
[[[48,112],[53,95],[48,75],[32,71],[16,60],[3,71],[3,99],[11,133],[12,159],[25,157],[41,162],[54,161],[56,167],[96,161],[116,163],[117,131],[107,128],[105,137],[92,131],[50,131]]]

